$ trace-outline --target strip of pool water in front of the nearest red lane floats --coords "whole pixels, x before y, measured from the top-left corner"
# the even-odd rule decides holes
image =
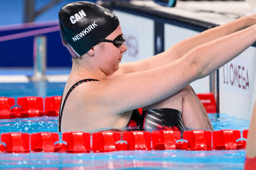
[[[0,168],[50,169],[243,169],[244,151],[116,151],[105,153],[0,154]],[[48,170],[48,169],[47,169]]]

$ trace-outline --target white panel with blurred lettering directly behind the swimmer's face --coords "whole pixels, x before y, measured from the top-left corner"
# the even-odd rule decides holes
[[[154,55],[154,20],[114,10],[120,21],[127,51],[122,62],[131,62]]]

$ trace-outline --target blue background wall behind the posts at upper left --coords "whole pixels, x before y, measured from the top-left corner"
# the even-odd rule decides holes
[[[73,1],[62,0],[39,15],[35,22],[58,20],[61,7]],[[49,2],[50,0],[35,0],[35,10]],[[0,28],[8,25],[7,31],[0,31],[0,37],[46,28],[12,29],[13,24],[22,24],[24,21],[24,1],[0,0],[0,4]],[[59,31],[44,35],[47,38],[47,67],[70,67],[72,65],[71,54],[62,45]],[[0,67],[33,67],[33,44],[34,36],[0,42]]]

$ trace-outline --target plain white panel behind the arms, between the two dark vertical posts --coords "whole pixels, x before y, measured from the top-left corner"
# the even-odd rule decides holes
[[[189,30],[186,28],[165,24],[164,25],[164,50],[167,50],[177,42],[180,42],[186,38],[192,37],[199,32]],[[196,80],[190,85],[193,87],[196,93],[209,93],[210,92],[210,76]]]

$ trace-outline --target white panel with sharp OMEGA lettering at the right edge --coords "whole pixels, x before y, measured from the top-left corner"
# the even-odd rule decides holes
[[[251,46],[219,69],[220,113],[250,119],[256,98],[255,56]]]

